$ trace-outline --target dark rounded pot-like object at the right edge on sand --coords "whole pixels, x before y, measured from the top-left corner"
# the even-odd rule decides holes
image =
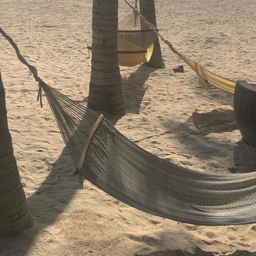
[[[256,147],[256,88],[238,80],[234,90],[234,115],[243,140]]]

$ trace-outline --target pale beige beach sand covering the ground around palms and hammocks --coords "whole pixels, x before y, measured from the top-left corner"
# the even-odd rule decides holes
[[[124,17],[130,10],[119,2]],[[256,81],[255,4],[156,0],[158,27],[184,55],[211,71]],[[0,26],[44,81],[82,101],[90,81],[91,12],[88,0],[1,0]],[[215,173],[256,169],[256,153],[236,130],[232,96],[214,88],[203,91],[193,71],[163,45],[162,52],[164,70],[121,67],[129,113],[112,118],[117,129],[181,166]],[[185,73],[175,74],[172,68],[182,64]],[[31,229],[0,239],[0,255],[256,255],[255,225],[187,225],[145,214],[88,182],[78,190],[46,98],[41,110],[37,83],[2,36],[0,68],[14,152],[34,219]]]

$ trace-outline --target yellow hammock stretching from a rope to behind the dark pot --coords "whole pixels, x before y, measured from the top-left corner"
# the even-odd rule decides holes
[[[179,56],[187,63],[187,65],[191,69],[193,69],[197,73],[199,84],[202,86],[203,89],[208,89],[208,86],[212,85],[227,93],[234,94],[234,89],[236,88],[236,81],[216,75],[215,73],[212,73],[211,71],[199,65],[197,62],[181,54],[179,54]],[[256,86],[256,84],[252,84],[252,86]]]

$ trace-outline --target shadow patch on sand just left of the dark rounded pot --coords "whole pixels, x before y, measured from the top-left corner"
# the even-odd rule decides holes
[[[172,134],[186,152],[202,161],[207,156],[218,159],[220,150],[223,151],[223,154],[227,154],[227,150],[230,151],[230,146],[220,145],[220,140],[217,137],[212,138],[206,135],[236,130],[237,125],[232,112],[232,110],[223,111],[221,109],[202,114],[194,112],[185,122],[178,123],[176,127],[174,127],[174,120],[168,120],[163,123],[167,131],[160,135]]]

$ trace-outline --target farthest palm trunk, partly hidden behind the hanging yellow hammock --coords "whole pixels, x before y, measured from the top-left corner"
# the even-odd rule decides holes
[[[155,0],[140,0],[140,13],[157,27]],[[150,61],[147,62],[147,66],[158,69],[165,67],[158,38],[156,39],[153,54]]]

